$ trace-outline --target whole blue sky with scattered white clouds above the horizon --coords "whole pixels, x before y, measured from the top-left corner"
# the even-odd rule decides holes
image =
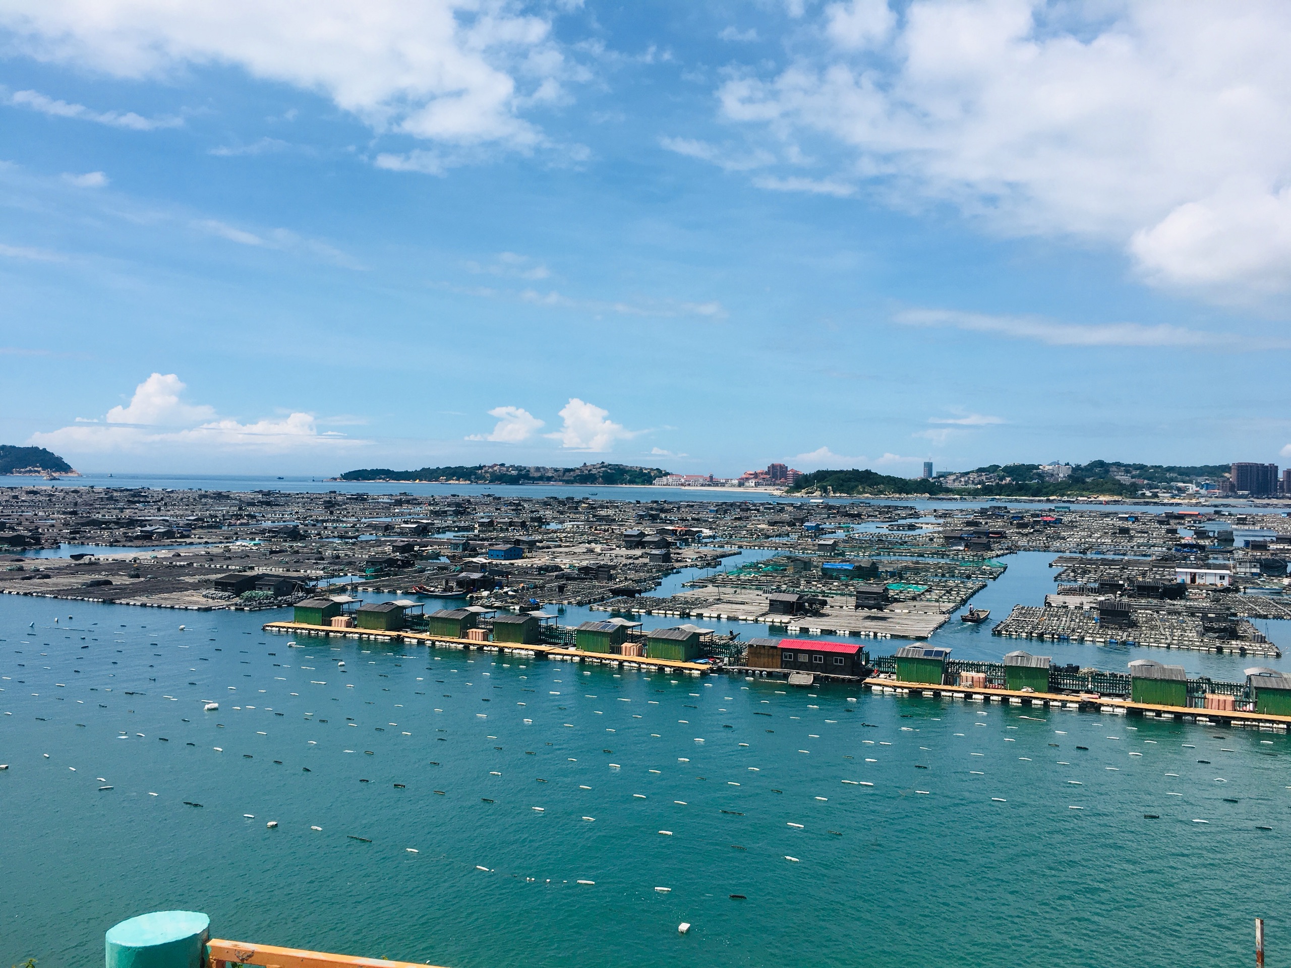
[[[0,443],[1286,463],[1287,49],[1281,0],[6,0]]]

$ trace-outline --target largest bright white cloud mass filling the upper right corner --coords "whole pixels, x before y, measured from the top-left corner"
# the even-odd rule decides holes
[[[724,119],[809,141],[829,170],[807,174],[899,208],[1123,247],[1158,285],[1291,288],[1291,5],[901,6],[828,4],[816,48],[728,75]]]

